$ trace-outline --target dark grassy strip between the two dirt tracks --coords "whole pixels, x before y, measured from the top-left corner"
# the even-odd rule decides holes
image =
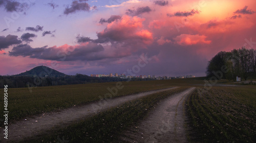
[[[69,127],[55,131],[37,139],[23,140],[21,142],[57,142],[58,139],[69,142],[120,142],[118,135],[123,130],[129,129],[137,121],[145,118],[157,103],[175,93],[186,90],[186,87],[169,90],[166,92],[148,95],[146,97],[126,102],[118,107],[113,107],[101,112],[94,117],[83,120]],[[49,132],[48,132],[49,134]]]

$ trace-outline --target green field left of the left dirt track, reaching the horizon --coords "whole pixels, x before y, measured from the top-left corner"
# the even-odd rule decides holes
[[[118,90],[117,94],[112,97],[170,88],[177,85],[184,86],[192,83],[203,83],[203,81],[200,78],[124,81],[122,82],[123,88]],[[32,92],[28,88],[8,89],[9,120],[97,101],[100,98],[104,98],[105,94],[110,93],[108,88],[116,88],[116,82],[37,87],[33,88]],[[0,93],[4,95],[4,89],[0,89]],[[110,98],[110,96],[106,98]],[[3,110],[4,96],[0,98],[0,117],[3,117]]]

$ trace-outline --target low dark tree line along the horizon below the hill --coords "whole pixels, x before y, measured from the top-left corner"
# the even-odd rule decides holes
[[[0,75],[0,88],[8,85],[8,88],[28,88],[28,87],[47,87],[53,85],[69,85],[69,84],[87,84],[99,82],[116,82],[116,81],[145,81],[154,80],[151,78],[132,78],[123,79],[119,77],[90,77],[88,75],[76,74],[65,75],[56,77],[31,77],[31,76],[1,76]]]

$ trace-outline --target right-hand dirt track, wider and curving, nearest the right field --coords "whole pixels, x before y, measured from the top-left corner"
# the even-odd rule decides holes
[[[127,142],[187,142],[183,101],[195,88],[172,95],[159,103],[149,117],[125,131],[120,140]]]

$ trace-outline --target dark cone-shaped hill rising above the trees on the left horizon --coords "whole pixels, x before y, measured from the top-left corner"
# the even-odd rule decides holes
[[[59,76],[65,76],[66,74],[58,72],[52,68],[46,67],[46,66],[38,66],[35,67],[29,71],[17,74],[16,76],[39,76],[39,77],[59,77]]]

